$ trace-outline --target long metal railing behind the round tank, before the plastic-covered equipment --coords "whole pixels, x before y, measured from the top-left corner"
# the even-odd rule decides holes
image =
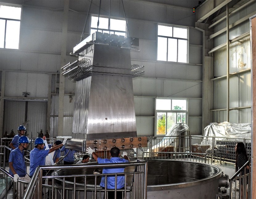
[[[246,146],[248,157],[251,155],[251,139],[226,138],[202,135],[149,136],[145,152],[191,152],[221,154],[222,160],[235,162],[234,147],[237,142]],[[137,149],[138,150],[138,149]],[[216,156],[218,158],[218,155]]]

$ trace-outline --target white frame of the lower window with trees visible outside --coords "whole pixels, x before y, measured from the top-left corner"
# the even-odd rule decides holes
[[[157,110],[156,109],[156,100],[157,99],[171,99],[171,110]],[[176,99],[180,99],[180,100],[186,100],[186,110],[173,110],[172,109],[172,100],[176,100]],[[155,127],[154,127],[154,135],[155,136],[165,136],[167,134],[167,122],[165,121],[165,134],[161,135],[161,134],[157,134],[157,114],[158,113],[165,113],[166,115],[166,119],[167,119],[167,114],[168,113],[175,113],[176,114],[176,123],[177,123],[177,113],[185,113],[185,119],[186,119],[186,124],[188,124],[188,98],[174,98],[174,97],[156,97],[155,98]],[[182,122],[181,122],[182,123]]]

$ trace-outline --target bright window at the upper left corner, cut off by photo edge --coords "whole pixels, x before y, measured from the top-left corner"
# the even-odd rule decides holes
[[[0,5],[0,48],[19,49],[21,7]]]

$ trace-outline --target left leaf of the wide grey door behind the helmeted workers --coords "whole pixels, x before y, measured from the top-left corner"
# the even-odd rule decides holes
[[[25,102],[24,101],[7,101],[4,102],[4,125],[3,131],[13,129],[17,134],[17,129],[25,122]]]

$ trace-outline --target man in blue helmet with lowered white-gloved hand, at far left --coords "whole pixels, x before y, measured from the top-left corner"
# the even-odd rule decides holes
[[[30,182],[30,178],[27,174],[27,166],[25,164],[24,158],[24,149],[27,149],[29,139],[26,136],[20,136],[19,146],[10,152],[9,156],[9,173],[13,178],[14,182],[17,182],[18,179]],[[20,190],[21,187],[21,190]],[[18,198],[23,197],[24,187],[18,183]]]

